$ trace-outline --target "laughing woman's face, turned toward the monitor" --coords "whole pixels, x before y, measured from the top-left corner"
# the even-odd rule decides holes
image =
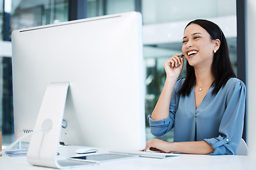
[[[213,62],[213,50],[216,41],[201,26],[192,23],[184,31],[182,52],[193,67],[210,67]]]

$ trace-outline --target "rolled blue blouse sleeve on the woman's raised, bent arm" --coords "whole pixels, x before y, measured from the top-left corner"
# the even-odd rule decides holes
[[[167,132],[174,128],[174,117],[176,113],[176,97],[178,89],[180,89],[183,79],[178,79],[176,85],[174,87],[174,92],[171,95],[171,103],[170,103],[170,112],[169,117],[163,120],[153,120],[151,119],[151,115],[148,116],[149,126],[151,130],[151,134],[154,136],[163,136]]]

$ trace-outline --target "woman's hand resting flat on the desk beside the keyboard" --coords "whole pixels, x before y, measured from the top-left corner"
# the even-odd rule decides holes
[[[164,152],[164,153],[169,153],[171,151],[171,143],[166,142],[164,140],[159,140],[159,139],[154,139],[154,140],[149,140],[146,142],[146,148],[143,149],[142,151],[146,151],[146,149],[150,149],[152,151],[159,151],[159,152]]]

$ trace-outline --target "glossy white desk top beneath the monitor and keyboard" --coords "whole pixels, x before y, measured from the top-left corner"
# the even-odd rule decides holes
[[[72,149],[74,150],[74,148]],[[74,156],[70,153],[70,148],[63,147],[60,149],[60,156],[67,157]],[[71,152],[73,153],[73,152]],[[26,161],[26,157],[8,157],[6,154],[0,157],[0,169],[48,169],[39,166],[32,166]],[[231,170],[249,170],[256,169],[256,162],[250,162],[249,157],[223,155],[223,156],[209,156],[209,155],[193,155],[182,154],[179,157],[167,157],[166,159],[150,159],[150,158],[135,158],[126,159],[116,162],[103,163],[97,166],[89,166],[84,169],[95,170],[115,170],[115,169],[129,169],[129,170],[156,170],[156,169],[231,169]]]

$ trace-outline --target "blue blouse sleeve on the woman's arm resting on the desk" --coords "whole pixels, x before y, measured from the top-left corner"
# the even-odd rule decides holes
[[[233,86],[228,82],[225,86],[227,86],[225,88],[228,89],[228,93],[225,98],[225,112],[220,121],[219,136],[204,139],[214,149],[211,154],[236,154],[242,137],[245,115],[245,84],[242,81],[236,81]]]

